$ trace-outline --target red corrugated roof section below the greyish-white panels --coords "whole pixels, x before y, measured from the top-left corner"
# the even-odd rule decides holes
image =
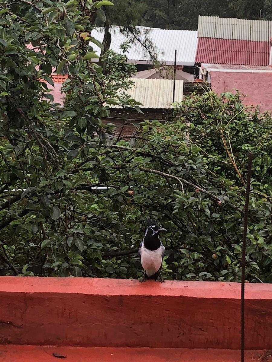
[[[270,42],[198,38],[197,63],[267,66]]]

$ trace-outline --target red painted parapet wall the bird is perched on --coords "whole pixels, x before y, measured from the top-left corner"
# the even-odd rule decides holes
[[[0,305],[2,345],[240,348],[239,283],[0,277]],[[271,349],[272,285],[245,310],[246,349]]]

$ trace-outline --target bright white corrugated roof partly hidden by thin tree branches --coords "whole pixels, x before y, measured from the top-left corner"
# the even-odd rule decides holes
[[[146,28],[144,26],[136,26],[141,31],[140,39],[144,41],[145,33],[148,31],[148,39],[152,42],[157,53],[157,60],[165,64],[174,64],[175,49],[177,50],[177,65],[194,65],[195,54],[197,51],[197,31],[195,30],[164,30],[157,28]],[[110,49],[116,53],[122,54],[120,45],[128,39],[121,34],[118,26],[112,26],[111,47]],[[104,28],[96,28],[91,32],[92,37],[103,41]],[[100,49],[93,43],[90,43],[97,54]],[[151,57],[148,51],[141,46],[139,41],[131,44],[131,48],[127,53],[128,60],[139,64],[147,64]]]

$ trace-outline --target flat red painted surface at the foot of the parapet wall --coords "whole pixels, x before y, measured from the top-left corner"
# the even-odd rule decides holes
[[[0,345],[0,362],[238,362],[240,351],[185,348],[111,348]],[[247,351],[245,362],[260,362],[263,351]],[[59,359],[61,361],[61,359]],[[269,359],[268,361],[269,362]]]

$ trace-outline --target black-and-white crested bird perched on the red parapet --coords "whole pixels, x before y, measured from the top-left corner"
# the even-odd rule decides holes
[[[161,275],[161,266],[165,247],[161,243],[159,233],[166,231],[166,229],[160,227],[152,220],[148,219],[147,222],[149,226],[139,246],[141,265],[144,268],[144,275],[140,282],[145,282],[147,279],[154,279],[154,281],[158,280],[163,283],[164,279]]]

